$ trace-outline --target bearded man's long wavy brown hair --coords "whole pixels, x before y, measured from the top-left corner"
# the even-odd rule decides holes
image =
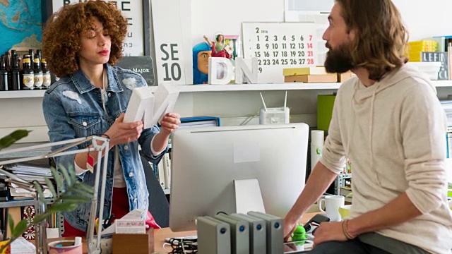
[[[336,0],[349,31],[355,32],[351,45],[355,67],[369,71],[371,80],[403,66],[408,32],[391,0]]]

